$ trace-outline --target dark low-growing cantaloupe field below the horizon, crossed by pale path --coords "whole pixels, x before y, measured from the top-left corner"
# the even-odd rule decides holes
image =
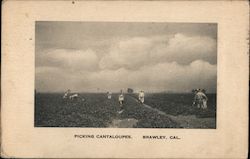
[[[36,93],[35,127],[216,128],[216,94],[207,94],[206,110],[192,106],[191,93],[145,94],[144,104],[137,94],[125,94],[123,109],[118,94],[79,95],[70,100],[63,93]]]

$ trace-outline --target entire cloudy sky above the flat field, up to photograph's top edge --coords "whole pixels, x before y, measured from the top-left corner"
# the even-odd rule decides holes
[[[216,92],[217,25],[36,22],[38,92]]]

